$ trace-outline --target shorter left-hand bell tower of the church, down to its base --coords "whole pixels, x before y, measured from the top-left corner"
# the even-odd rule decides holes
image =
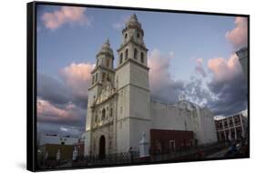
[[[109,39],[103,44],[96,56],[97,63],[91,72],[91,83],[88,87],[88,100],[87,100],[87,125],[86,125],[86,143],[85,143],[85,156],[91,154],[91,137],[92,137],[92,119],[94,116],[94,109],[92,108],[99,97],[104,83],[107,81],[112,85],[115,79],[115,70],[113,66],[114,54],[110,47]]]

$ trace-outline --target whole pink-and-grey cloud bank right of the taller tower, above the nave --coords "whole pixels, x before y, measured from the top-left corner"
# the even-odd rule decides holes
[[[230,58],[212,58],[205,71],[203,59],[196,59],[195,71],[189,81],[175,80],[169,74],[171,58],[163,57],[158,50],[148,55],[151,98],[175,103],[180,94],[201,107],[209,107],[214,115],[228,116],[247,108],[247,86],[241,65],[235,55]],[[198,68],[197,68],[198,67]],[[200,70],[199,70],[200,68]],[[206,83],[206,77],[210,79]]]

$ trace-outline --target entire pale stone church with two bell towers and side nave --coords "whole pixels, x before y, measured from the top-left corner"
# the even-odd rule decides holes
[[[213,114],[179,97],[176,104],[150,100],[148,49],[136,15],[122,30],[118,66],[109,40],[97,53],[88,87],[85,156],[139,150],[142,134],[154,152],[217,141]]]

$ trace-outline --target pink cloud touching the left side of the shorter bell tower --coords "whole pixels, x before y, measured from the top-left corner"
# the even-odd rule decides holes
[[[87,88],[91,80],[91,71],[95,65],[92,64],[71,64],[60,71],[64,82],[77,97],[87,97]]]

